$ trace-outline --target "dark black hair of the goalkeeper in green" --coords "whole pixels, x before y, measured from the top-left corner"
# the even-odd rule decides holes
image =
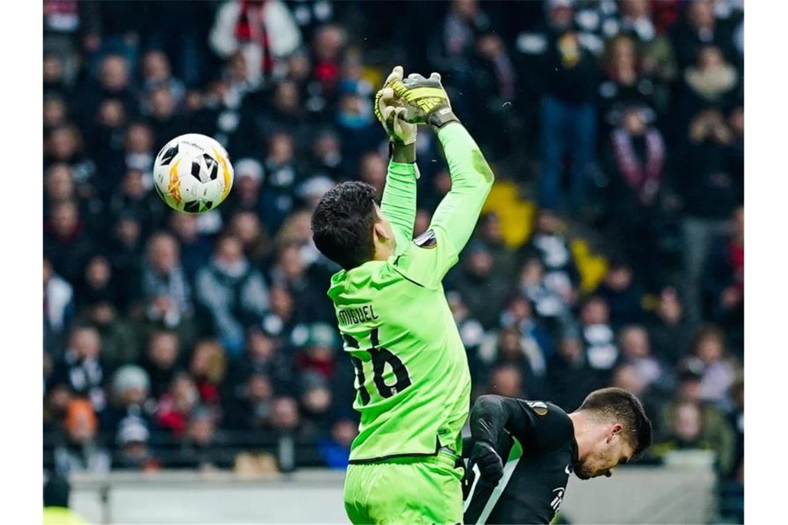
[[[377,192],[367,183],[337,184],[312,214],[312,236],[325,257],[349,270],[374,255],[372,229],[377,219]]]

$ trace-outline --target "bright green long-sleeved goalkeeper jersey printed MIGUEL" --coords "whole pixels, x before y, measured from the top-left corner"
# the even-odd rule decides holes
[[[438,131],[452,190],[429,229],[413,237],[416,166],[391,162],[381,213],[396,253],[333,275],[329,297],[355,368],[361,413],[351,463],[460,453],[470,405],[470,372],[441,280],[474,231],[492,170],[459,123]]]

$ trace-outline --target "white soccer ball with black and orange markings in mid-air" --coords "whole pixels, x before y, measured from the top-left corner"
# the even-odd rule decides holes
[[[216,208],[232,188],[225,148],[206,135],[180,135],[162,148],[153,165],[154,186],[173,209],[203,213]]]

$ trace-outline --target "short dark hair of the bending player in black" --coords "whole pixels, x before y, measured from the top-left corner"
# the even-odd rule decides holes
[[[651,421],[645,415],[643,404],[623,388],[611,386],[594,390],[585,397],[578,410],[597,412],[623,423],[624,435],[632,445],[635,456],[651,446]]]

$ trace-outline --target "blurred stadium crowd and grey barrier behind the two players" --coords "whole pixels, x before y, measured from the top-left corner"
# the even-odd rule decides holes
[[[743,523],[742,0],[44,0],[43,43],[43,468],[77,511],[344,520],[354,374],[310,213],[384,186],[372,102],[404,65],[441,73],[497,176],[444,281],[474,397],[621,386],[655,425],[563,519]],[[236,173],[200,216],[152,190],[187,132]],[[414,235],[451,187],[429,131],[418,166]],[[316,490],[336,516],[293,510]]]

